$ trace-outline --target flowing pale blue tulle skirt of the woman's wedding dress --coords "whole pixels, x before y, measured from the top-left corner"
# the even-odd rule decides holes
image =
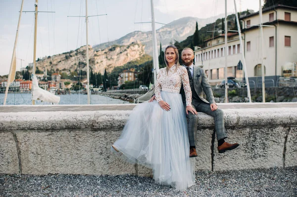
[[[136,106],[114,146],[130,162],[150,167],[156,183],[185,190],[195,182],[195,166],[182,97],[165,91],[161,96],[170,111],[156,101]]]

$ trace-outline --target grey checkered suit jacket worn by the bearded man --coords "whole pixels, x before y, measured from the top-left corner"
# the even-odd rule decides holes
[[[210,104],[215,103],[212,89],[210,84],[208,83],[207,76],[204,70],[195,65],[193,69],[194,69],[194,74],[193,74],[194,88],[199,98],[201,99],[201,101],[205,103],[210,103]],[[207,100],[203,98],[202,90],[204,91]],[[186,103],[185,91],[183,86],[181,88],[180,93],[182,94],[183,102]]]

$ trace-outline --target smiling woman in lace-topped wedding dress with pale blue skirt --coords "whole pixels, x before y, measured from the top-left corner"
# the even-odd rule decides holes
[[[185,190],[195,182],[195,166],[189,158],[187,121],[179,93],[183,83],[187,108],[191,106],[192,92],[186,68],[178,63],[176,46],[165,49],[166,68],[159,70],[153,102],[136,106],[120,138],[111,151],[143,164],[153,170],[153,179],[162,185]]]

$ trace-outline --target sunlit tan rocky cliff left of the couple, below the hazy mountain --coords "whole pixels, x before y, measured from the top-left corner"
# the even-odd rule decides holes
[[[70,73],[71,71],[86,71],[86,46],[82,46],[74,51],[65,52],[49,57],[45,57],[37,62],[39,70],[43,71],[57,69]],[[112,45],[103,50],[94,50],[89,46],[89,65],[95,73],[111,72],[114,67],[139,59],[145,54],[145,46],[140,42],[133,42],[128,45]]]

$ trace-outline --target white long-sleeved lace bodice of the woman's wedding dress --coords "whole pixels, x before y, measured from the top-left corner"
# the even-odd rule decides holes
[[[176,70],[176,66],[174,65],[169,69],[168,75],[166,68],[160,69],[157,76],[154,92],[157,102],[162,101],[161,91],[179,93],[182,83],[186,94],[186,104],[187,106],[191,106],[192,91],[187,69],[183,66],[179,66]]]

